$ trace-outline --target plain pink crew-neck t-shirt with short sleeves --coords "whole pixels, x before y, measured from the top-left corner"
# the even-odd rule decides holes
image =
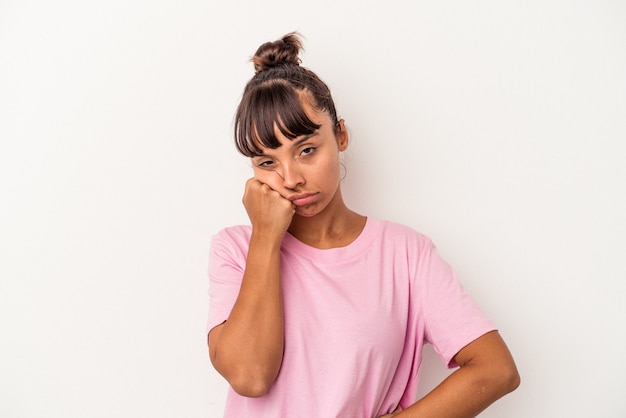
[[[237,298],[251,228],[213,237],[207,331]],[[286,234],[281,248],[285,350],[269,393],[229,390],[225,418],[374,418],[416,401],[422,348],[456,366],[458,351],[494,330],[433,243],[369,218],[342,248],[321,250]]]

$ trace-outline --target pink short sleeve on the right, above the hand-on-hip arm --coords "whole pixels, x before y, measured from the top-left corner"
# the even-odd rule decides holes
[[[435,245],[428,240],[421,250],[417,275],[425,339],[444,364],[456,367],[454,356],[495,327],[465,291]]]

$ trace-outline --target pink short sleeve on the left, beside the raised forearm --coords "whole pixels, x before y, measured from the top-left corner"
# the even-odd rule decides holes
[[[207,333],[228,319],[239,295],[249,242],[243,228],[222,230],[211,239]]]

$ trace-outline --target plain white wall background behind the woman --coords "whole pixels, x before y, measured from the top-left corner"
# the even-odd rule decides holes
[[[433,238],[517,360],[482,416],[626,416],[608,0],[0,0],[0,416],[221,416],[209,239],[247,221],[248,58],[292,30],[351,132],[348,203]]]

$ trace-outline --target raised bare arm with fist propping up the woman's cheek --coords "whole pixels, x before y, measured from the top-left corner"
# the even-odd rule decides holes
[[[294,210],[290,201],[257,180],[246,183],[243,203],[252,235],[239,296],[226,322],[209,332],[215,369],[243,396],[262,396],[283,356],[284,320],[280,244]]]

